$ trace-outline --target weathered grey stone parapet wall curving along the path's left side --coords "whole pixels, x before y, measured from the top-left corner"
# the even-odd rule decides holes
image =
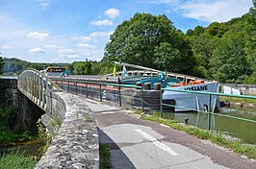
[[[56,136],[35,168],[99,167],[97,128],[83,98],[66,92],[48,91],[47,112],[41,121]],[[56,125],[58,127],[60,123],[62,125],[57,132]]]

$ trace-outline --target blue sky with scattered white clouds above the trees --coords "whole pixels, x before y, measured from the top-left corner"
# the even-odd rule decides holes
[[[0,0],[0,56],[32,62],[101,60],[117,25],[136,12],[188,29],[249,12],[252,0]]]

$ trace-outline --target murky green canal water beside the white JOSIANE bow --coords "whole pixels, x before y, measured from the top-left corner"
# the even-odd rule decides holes
[[[220,109],[218,113],[242,117],[256,121],[256,110],[252,109]],[[189,124],[202,129],[208,129],[208,114],[197,112],[164,112],[164,118],[175,119],[184,123],[189,118]],[[246,144],[256,145],[256,123],[213,115],[211,129],[241,139]]]

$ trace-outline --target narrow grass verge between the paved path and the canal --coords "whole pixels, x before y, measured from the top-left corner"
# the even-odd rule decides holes
[[[137,110],[135,111],[135,113],[140,114],[141,118],[144,120],[150,120],[150,121],[162,123],[162,124],[165,124],[166,126],[169,126],[172,129],[192,134],[193,136],[196,136],[200,139],[211,140],[212,142],[216,143],[218,146],[231,149],[236,153],[245,155],[246,157],[249,157],[249,158],[256,159],[255,146],[243,145],[242,142],[239,140],[228,140],[224,138],[223,134],[221,133],[202,130],[197,127],[189,126],[189,125],[180,125],[175,120],[160,118],[159,112],[154,112],[152,115],[145,115],[142,111]]]

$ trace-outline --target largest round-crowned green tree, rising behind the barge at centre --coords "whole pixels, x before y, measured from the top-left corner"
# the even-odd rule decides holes
[[[162,48],[165,54],[160,53]],[[173,54],[175,56],[171,56]],[[185,36],[174,28],[166,15],[136,13],[116,27],[106,45],[103,60],[118,60],[168,71],[171,65],[166,66],[163,60],[173,57],[187,60],[184,62],[188,67],[180,68],[180,73],[186,73],[192,65],[192,50]]]

